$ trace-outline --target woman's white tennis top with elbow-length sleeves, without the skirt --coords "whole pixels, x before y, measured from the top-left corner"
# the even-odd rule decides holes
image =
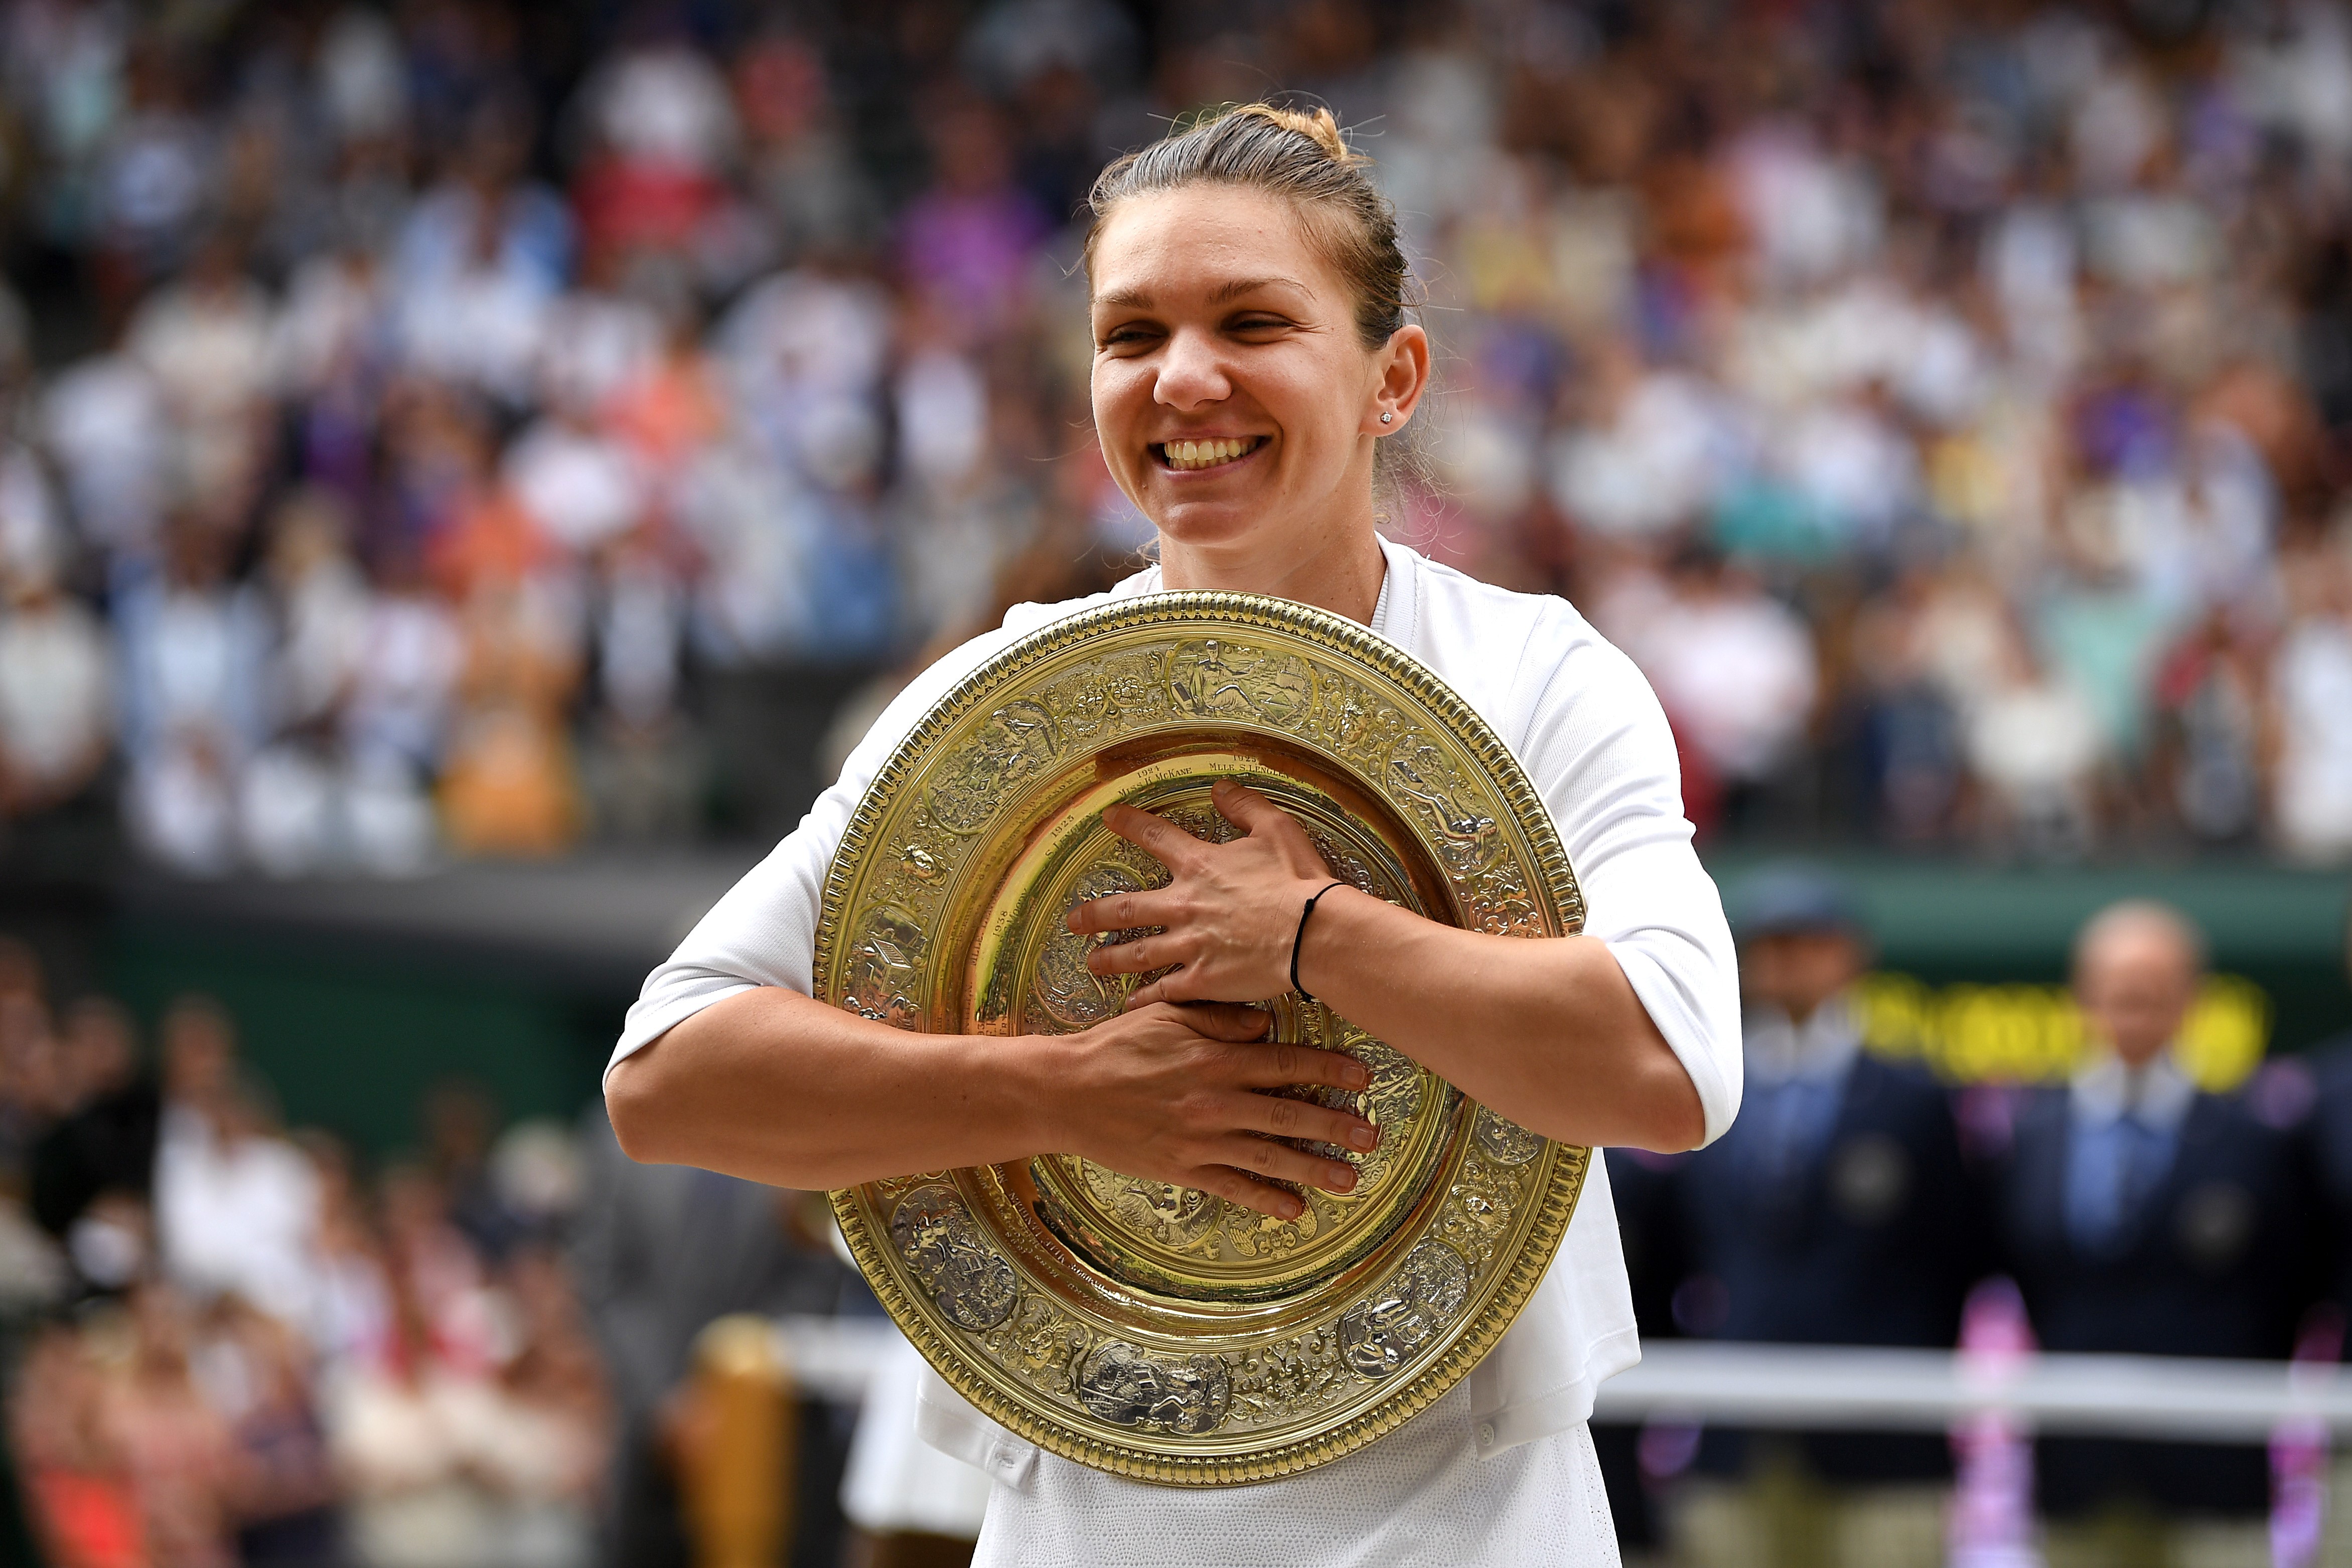
[[[1719,1138],[1740,1105],[1738,971],[1722,898],[1691,849],[1675,738],[1649,682],[1564,599],[1479,583],[1390,541],[1381,548],[1388,576],[1371,630],[1442,675],[1526,769],[1585,893],[1585,933],[1609,943],[1698,1086],[1708,1140]],[[807,994],[833,851],[906,733],[955,682],[1014,639],[1103,599],[1157,588],[1160,569],[1150,567],[1108,595],[1018,604],[1000,630],[917,675],[800,827],[647,978],[612,1060],[741,990],[790,985]],[[1609,1168],[1595,1159],[1552,1269],[1503,1342],[1470,1373],[1463,1425],[1475,1455],[1489,1460],[1578,1427],[1592,1413],[1599,1382],[1639,1356]],[[1461,1406],[1449,1396],[1409,1427],[1439,1410],[1461,1413]],[[997,1483],[1033,1488],[1037,1481],[1037,1450],[938,1380],[927,1387],[922,1429],[934,1446],[978,1465]],[[1376,1448],[1395,1441],[1397,1434]],[[1042,1458],[1056,1476],[1080,1469]],[[1214,1495],[1265,1495],[1310,1486],[1327,1472]],[[1171,1495],[1110,1476],[1101,1481],[1145,1500]]]

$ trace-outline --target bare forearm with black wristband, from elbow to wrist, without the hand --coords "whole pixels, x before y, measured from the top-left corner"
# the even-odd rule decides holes
[[[1308,922],[1298,978],[1534,1133],[1663,1152],[1705,1138],[1691,1074],[1597,938],[1456,931],[1336,889]]]

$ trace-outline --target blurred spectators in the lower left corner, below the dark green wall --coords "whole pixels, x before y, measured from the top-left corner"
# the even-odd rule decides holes
[[[52,1016],[0,950],[7,1453],[56,1568],[586,1568],[614,1418],[567,1128],[477,1091],[362,1171],[278,1126],[230,1018]]]

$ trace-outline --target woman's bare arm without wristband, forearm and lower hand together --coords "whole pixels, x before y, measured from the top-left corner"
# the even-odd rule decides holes
[[[1296,1218],[1301,1201],[1270,1182],[1348,1192],[1355,1168],[1275,1138],[1371,1150],[1378,1131],[1258,1091],[1364,1088],[1369,1074],[1263,1032],[1254,1009],[1167,1004],[1080,1034],[910,1034],[764,985],[623,1058],[604,1105],[630,1159],[776,1187],[1056,1152]]]

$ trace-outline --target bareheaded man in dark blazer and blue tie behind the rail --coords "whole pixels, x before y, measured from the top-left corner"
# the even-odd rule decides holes
[[[2089,1058],[2018,1107],[1999,1192],[2009,1267],[2053,1352],[2279,1356],[2317,1279],[2293,1128],[2173,1060],[2204,940],[2119,903],[2074,943]],[[2267,1561],[2260,1446],[2049,1439],[2051,1568]]]

